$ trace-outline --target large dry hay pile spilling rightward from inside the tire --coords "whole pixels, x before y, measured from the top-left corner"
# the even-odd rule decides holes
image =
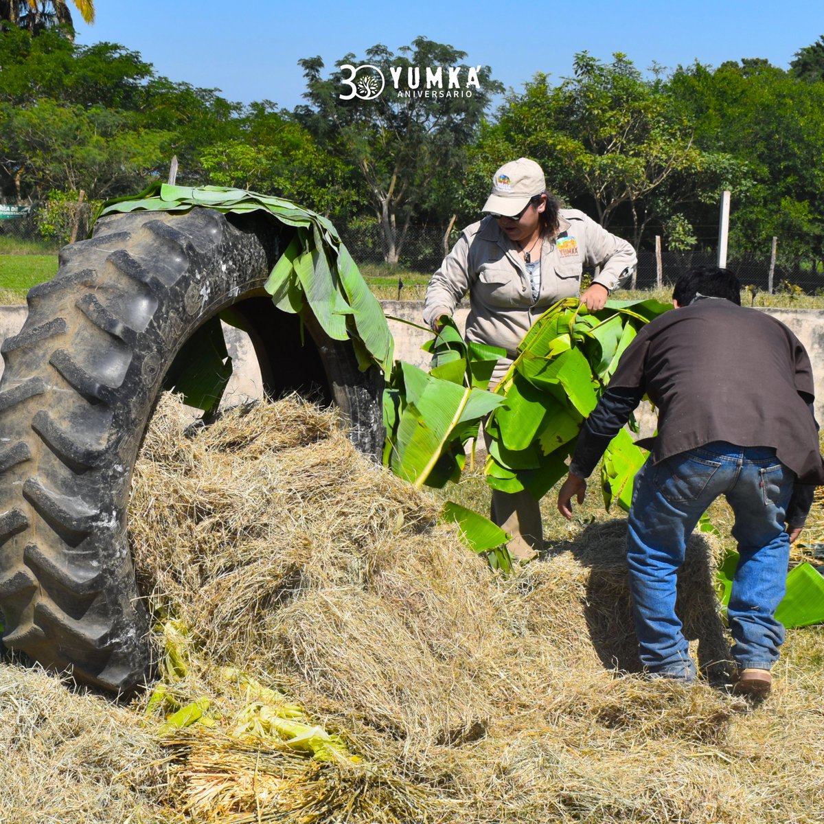
[[[330,412],[288,399],[186,427],[164,402],[130,524],[155,614],[190,628],[190,671],[171,689],[180,703],[207,695],[216,725],[163,737],[154,784],[157,737],[131,728],[142,761],[110,768],[144,805],[130,821],[824,821],[824,685],[804,668],[824,660],[818,630],[791,639],[755,711],[705,683],[645,681],[631,674],[622,522],[502,578],[438,525],[432,496],[355,453]],[[691,546],[680,610],[723,682],[712,551]],[[361,761],[233,737],[249,695],[225,666],[288,695]]]

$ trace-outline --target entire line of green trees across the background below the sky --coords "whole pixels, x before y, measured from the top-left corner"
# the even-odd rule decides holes
[[[565,204],[636,247],[654,235],[670,249],[714,246],[729,189],[731,250],[780,236],[784,254],[824,260],[824,35],[786,70],[754,58],[644,73],[626,54],[582,52],[569,77],[537,73],[506,95],[489,67],[418,37],[328,71],[302,59],[306,102],[290,111],[172,81],[122,44],[74,44],[47,25],[65,7],[0,0],[6,202],[130,194],[165,179],[176,155],[186,185],[260,190],[344,231],[374,227],[395,263],[411,226],[474,221],[495,168],[527,156]]]

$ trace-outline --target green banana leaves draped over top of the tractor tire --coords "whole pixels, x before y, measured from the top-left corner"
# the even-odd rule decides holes
[[[156,183],[140,194],[106,201],[96,219],[113,212],[183,212],[195,206],[233,213],[262,210],[294,227],[293,241],[265,284],[274,304],[283,311],[311,311],[330,338],[351,339],[362,369],[377,365],[387,374],[391,371],[395,342],[381,305],[335,227],[321,215],[241,189]]]

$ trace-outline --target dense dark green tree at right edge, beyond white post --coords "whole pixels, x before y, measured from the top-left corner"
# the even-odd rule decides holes
[[[824,257],[824,83],[764,59],[713,69],[678,68],[672,95],[695,129],[695,144],[745,164],[746,197],[733,199],[730,248]],[[715,209],[710,218],[715,220]]]

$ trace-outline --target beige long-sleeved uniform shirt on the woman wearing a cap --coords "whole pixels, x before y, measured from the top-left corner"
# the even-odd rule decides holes
[[[517,246],[487,217],[461,232],[452,251],[432,276],[424,320],[451,315],[469,293],[466,338],[502,346],[509,358],[531,325],[562,297],[580,291],[584,267],[600,266],[593,283],[612,291],[630,277],[637,258],[627,241],[612,235],[577,209],[559,211],[558,236],[541,247],[541,291],[532,299],[527,269]]]

